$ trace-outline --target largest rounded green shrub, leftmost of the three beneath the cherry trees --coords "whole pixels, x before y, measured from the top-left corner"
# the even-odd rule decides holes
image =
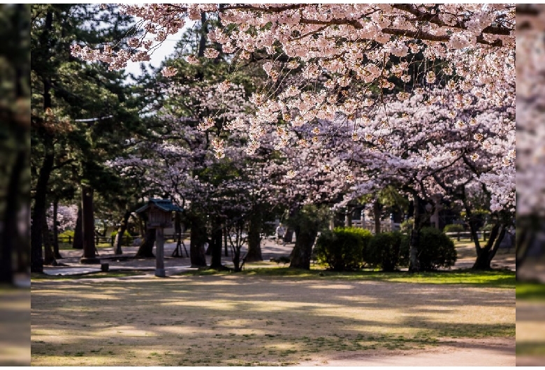
[[[359,269],[363,262],[363,249],[371,236],[369,230],[360,228],[326,230],[314,247],[317,261],[334,271]]]

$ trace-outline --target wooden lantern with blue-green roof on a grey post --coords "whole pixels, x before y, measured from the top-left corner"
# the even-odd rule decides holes
[[[165,276],[163,228],[171,228],[172,212],[182,212],[182,208],[173,205],[168,199],[150,199],[147,205],[136,209],[138,214],[147,215],[147,228],[155,229],[155,276]]]

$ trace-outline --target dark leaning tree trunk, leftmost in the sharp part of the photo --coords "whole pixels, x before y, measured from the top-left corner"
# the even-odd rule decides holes
[[[34,195],[34,209],[31,216],[30,228],[30,271],[43,273],[43,215],[45,214],[45,200],[48,193],[48,182],[53,170],[54,156],[52,151],[46,151],[42,168],[36,184]]]

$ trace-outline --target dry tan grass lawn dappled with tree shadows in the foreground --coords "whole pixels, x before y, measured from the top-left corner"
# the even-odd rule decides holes
[[[514,338],[514,275],[494,275],[262,268],[33,279],[32,364],[287,365]]]

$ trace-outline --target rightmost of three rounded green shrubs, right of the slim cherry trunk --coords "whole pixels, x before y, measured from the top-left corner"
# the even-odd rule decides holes
[[[436,228],[422,228],[419,238],[419,261],[422,271],[451,267],[456,262],[456,248],[452,240]]]

